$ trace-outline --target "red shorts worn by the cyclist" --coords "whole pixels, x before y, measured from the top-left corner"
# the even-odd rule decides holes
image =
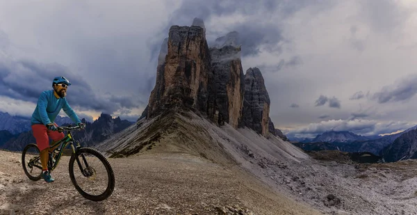
[[[56,125],[56,123],[54,123],[54,125],[56,127],[58,127],[58,125]],[[48,136],[53,140],[53,141],[59,141],[60,139],[64,138],[64,133],[60,133],[58,131],[54,132],[51,131],[49,129],[47,129],[46,126],[44,125],[32,125],[32,131],[33,131],[33,136],[36,139],[36,144],[38,144],[38,148],[40,151],[49,148],[49,138]]]

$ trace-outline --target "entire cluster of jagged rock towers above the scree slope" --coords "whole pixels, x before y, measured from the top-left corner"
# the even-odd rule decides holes
[[[254,67],[243,74],[237,38],[233,31],[208,49],[201,19],[194,19],[192,26],[172,26],[161,47],[156,85],[141,118],[154,118],[180,106],[218,125],[227,122],[234,128],[246,126],[277,136],[261,71]]]

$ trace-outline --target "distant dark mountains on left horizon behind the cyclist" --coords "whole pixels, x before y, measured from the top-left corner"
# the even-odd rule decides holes
[[[8,122],[24,122],[19,117],[8,117],[8,113],[3,113],[3,116],[5,119],[8,120]],[[15,118],[15,119],[13,119]],[[126,129],[127,127],[133,125],[134,122],[129,122],[128,120],[121,120],[119,117],[112,118],[112,116],[101,113],[101,116],[94,122],[86,122],[85,119],[83,119],[83,122],[85,122],[86,126],[83,131],[74,132],[73,136],[76,140],[80,141],[81,145],[83,146],[91,146],[95,145],[97,143],[100,143],[101,141],[106,140],[106,138],[109,138],[113,134],[116,134],[117,132],[122,131],[123,129]],[[26,121],[28,123],[29,128],[24,131],[16,134],[15,127],[8,127],[8,129],[15,132],[13,134],[12,132],[8,130],[1,130],[0,131],[0,148],[11,150],[11,151],[20,151],[23,150],[24,146],[28,143],[35,143],[35,138],[33,137],[33,133],[30,127],[30,120]],[[67,125],[73,125],[74,123],[70,118],[61,118],[58,116],[56,123],[58,125],[67,126]],[[3,124],[3,122],[0,121],[0,125]],[[17,124],[13,124],[17,125]]]

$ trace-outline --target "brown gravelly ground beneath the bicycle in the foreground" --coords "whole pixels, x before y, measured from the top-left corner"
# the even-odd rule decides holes
[[[320,214],[236,166],[179,153],[109,159],[115,191],[91,202],[74,189],[68,161],[52,173],[56,182],[32,182],[20,153],[0,151],[0,214]]]

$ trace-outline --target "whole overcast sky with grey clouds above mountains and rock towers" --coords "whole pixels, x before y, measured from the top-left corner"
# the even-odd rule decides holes
[[[284,133],[389,134],[417,124],[417,1],[0,0],[0,111],[30,116],[51,79],[79,115],[136,120],[171,25],[238,31]]]

